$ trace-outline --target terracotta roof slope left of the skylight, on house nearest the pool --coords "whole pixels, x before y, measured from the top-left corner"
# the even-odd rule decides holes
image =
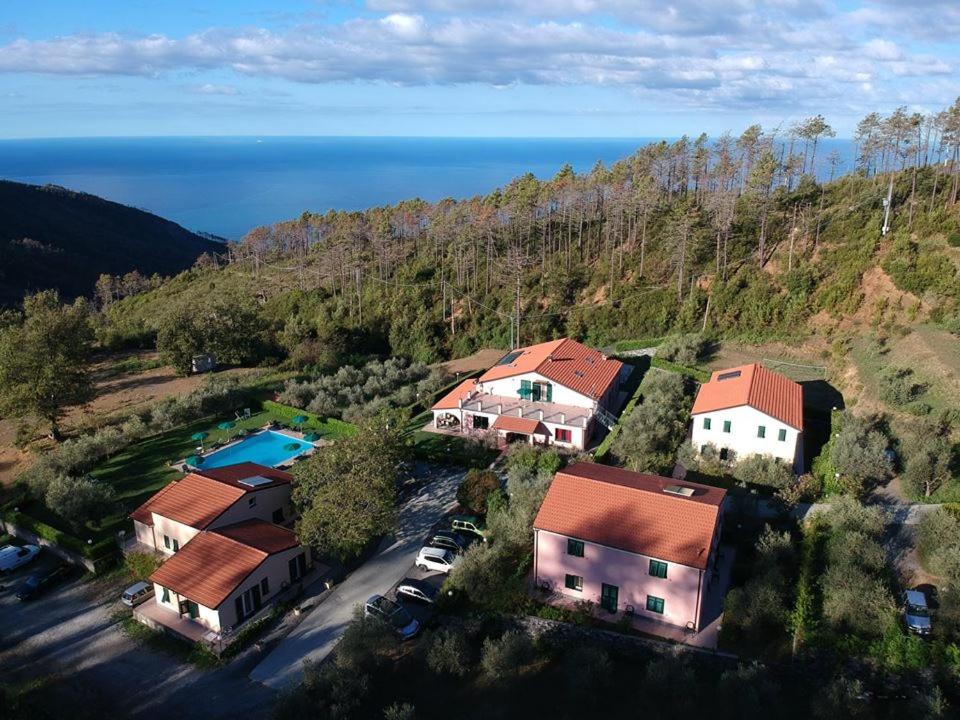
[[[190,473],[160,490],[134,510],[131,517],[151,525],[152,519],[141,518],[156,513],[202,530],[245,493],[239,487]]]

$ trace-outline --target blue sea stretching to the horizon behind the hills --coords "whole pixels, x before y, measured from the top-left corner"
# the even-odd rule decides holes
[[[70,138],[0,141],[0,178],[52,183],[237,240],[304,211],[483,195],[587,172],[659,138]],[[835,141],[837,142],[837,141]],[[840,141],[842,142],[842,141]],[[826,152],[823,153],[824,157]]]

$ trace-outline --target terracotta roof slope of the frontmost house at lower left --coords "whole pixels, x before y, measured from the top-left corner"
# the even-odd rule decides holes
[[[152,582],[208,608],[218,607],[269,553],[215,532],[202,532],[150,576]]]

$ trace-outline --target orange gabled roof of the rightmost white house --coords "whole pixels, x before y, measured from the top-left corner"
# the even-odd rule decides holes
[[[700,386],[692,413],[698,415],[742,405],[803,430],[803,388],[759,363],[717,370],[709,382]]]

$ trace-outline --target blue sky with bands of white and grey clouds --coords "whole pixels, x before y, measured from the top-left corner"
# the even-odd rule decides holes
[[[0,138],[676,137],[960,95],[960,0],[2,0]]]

